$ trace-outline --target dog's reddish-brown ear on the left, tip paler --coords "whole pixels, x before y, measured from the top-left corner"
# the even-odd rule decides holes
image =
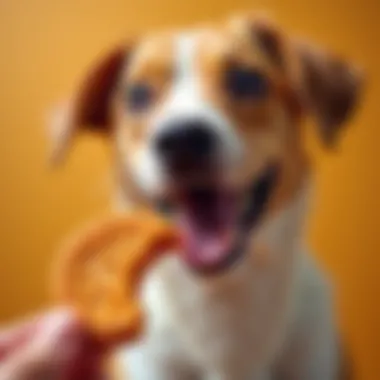
[[[77,133],[111,132],[112,98],[130,52],[131,48],[124,45],[103,55],[84,77],[72,100],[53,110],[49,120],[53,165],[64,160]]]

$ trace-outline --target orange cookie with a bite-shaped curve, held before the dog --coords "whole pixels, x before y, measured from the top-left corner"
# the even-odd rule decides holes
[[[155,259],[177,245],[175,230],[148,212],[100,222],[84,229],[59,256],[55,296],[73,306],[102,341],[133,340],[143,328],[140,280]]]

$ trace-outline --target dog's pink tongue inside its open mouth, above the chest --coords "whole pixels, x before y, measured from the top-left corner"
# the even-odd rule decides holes
[[[226,194],[216,193],[185,199],[181,226],[185,258],[191,265],[213,267],[226,259],[233,244],[233,203]]]

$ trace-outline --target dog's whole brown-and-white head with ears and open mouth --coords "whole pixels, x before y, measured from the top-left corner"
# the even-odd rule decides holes
[[[270,197],[279,207],[300,186],[301,119],[333,144],[360,84],[355,67],[252,15],[155,34],[94,66],[58,120],[55,158],[84,128],[109,136],[125,194],[167,206],[191,265],[216,269]]]

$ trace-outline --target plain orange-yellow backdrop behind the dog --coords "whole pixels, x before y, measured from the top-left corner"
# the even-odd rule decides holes
[[[0,321],[47,301],[51,253],[107,206],[106,146],[83,139],[49,170],[46,111],[69,94],[99,51],[128,35],[252,9],[243,0],[0,1]],[[290,31],[361,63],[368,86],[337,152],[312,145],[317,195],[309,240],[336,284],[358,380],[380,378],[380,21],[377,0],[258,1]],[[323,379],[321,379],[323,380]]]

